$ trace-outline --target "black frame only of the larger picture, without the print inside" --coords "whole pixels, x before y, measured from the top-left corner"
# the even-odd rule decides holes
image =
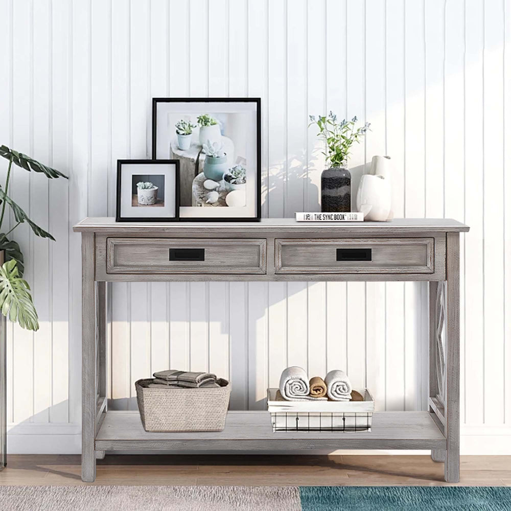
[[[259,222],[261,221],[261,98],[153,98],[152,102],[152,158],[159,161],[156,154],[157,142],[157,108],[159,103],[254,103],[257,111],[257,166],[255,184],[255,216],[254,217],[186,217],[181,222]]]

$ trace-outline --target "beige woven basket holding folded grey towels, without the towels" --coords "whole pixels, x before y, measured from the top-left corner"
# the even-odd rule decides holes
[[[135,382],[136,401],[146,431],[222,431],[231,385],[219,378],[216,388],[149,388]]]

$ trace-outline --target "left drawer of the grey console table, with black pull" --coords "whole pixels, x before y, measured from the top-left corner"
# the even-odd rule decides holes
[[[266,240],[108,238],[106,271],[266,273]]]

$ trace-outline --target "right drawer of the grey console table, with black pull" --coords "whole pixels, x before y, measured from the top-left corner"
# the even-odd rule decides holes
[[[275,239],[275,273],[433,273],[434,238]]]

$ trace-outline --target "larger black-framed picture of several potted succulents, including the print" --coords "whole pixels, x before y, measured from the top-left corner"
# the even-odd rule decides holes
[[[179,161],[179,220],[261,220],[260,98],[153,98],[152,149]]]

